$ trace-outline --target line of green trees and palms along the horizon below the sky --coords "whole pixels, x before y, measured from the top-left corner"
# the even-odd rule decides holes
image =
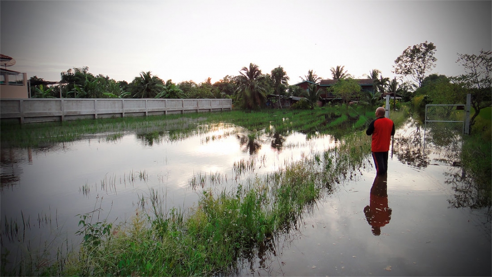
[[[398,95],[403,102],[412,101],[415,107],[425,104],[463,103],[467,93],[472,95],[475,114],[472,122],[485,107],[492,102],[491,92],[491,51],[481,50],[478,55],[457,53],[464,73],[459,76],[429,74],[435,67],[436,46],[425,41],[407,47],[397,57],[393,73],[397,77],[383,77],[379,69],[371,69],[364,74],[372,80],[372,91],[363,91],[354,77],[343,65],[331,67],[334,86],[321,88],[321,77],[314,70],[300,76],[309,86],[303,89],[289,85],[290,78],[280,65],[270,73],[264,74],[259,66],[250,63],[243,67],[239,75],[226,75],[212,84],[208,78],[202,83],[183,81],[173,83],[164,81],[151,71],[142,71],[130,83],[115,81],[102,74],[94,76],[89,67],[74,67],[61,73],[61,82],[48,87],[43,79],[31,77],[31,97],[33,98],[231,98],[235,106],[245,109],[258,109],[266,106],[267,95],[304,97],[309,108],[314,108],[321,100],[322,93],[332,93],[342,101],[357,99],[375,106],[379,105],[384,94]],[[406,80],[404,80],[406,79]]]

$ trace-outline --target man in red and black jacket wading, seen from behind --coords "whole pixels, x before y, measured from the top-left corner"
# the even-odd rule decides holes
[[[376,172],[386,174],[388,170],[388,151],[390,150],[391,136],[395,135],[395,124],[384,117],[383,107],[376,109],[376,119],[369,124],[366,134],[372,135],[371,152]]]

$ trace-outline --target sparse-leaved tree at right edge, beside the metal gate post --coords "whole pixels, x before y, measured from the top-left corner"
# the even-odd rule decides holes
[[[470,119],[470,128],[475,123],[475,118],[480,114],[480,110],[492,106],[491,92],[491,70],[492,54],[491,51],[480,50],[480,54],[458,54],[456,62],[463,66],[465,74],[453,78],[463,88],[466,93],[471,94],[471,105],[475,109],[475,114]]]

